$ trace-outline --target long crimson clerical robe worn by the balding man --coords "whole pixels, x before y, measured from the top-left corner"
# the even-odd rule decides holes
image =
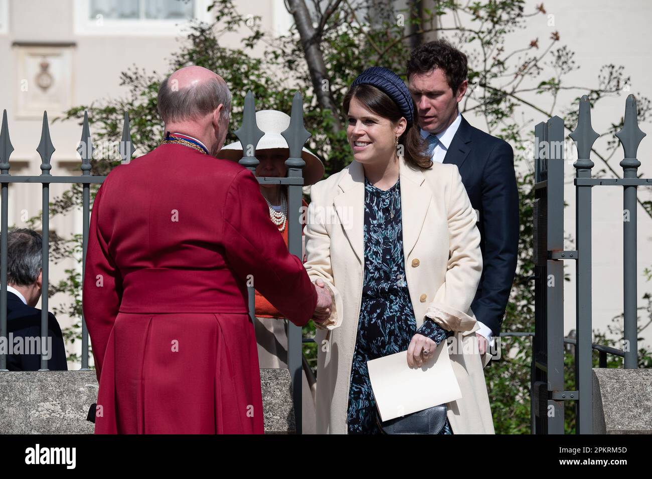
[[[83,283],[95,433],[263,433],[248,280],[295,325],[312,317],[314,286],[248,169],[177,144],[115,167]]]

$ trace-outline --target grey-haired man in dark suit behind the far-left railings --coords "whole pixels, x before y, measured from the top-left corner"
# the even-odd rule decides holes
[[[48,358],[48,370],[68,370],[61,328],[50,312],[48,338],[45,343],[40,338],[41,310],[34,306],[42,291],[41,248],[41,236],[31,229],[14,229],[7,235],[7,330],[13,352],[7,355],[10,371],[40,370],[41,354]]]

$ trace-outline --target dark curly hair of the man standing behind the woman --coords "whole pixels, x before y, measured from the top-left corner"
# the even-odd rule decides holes
[[[467,58],[446,40],[424,43],[412,50],[408,60],[408,80],[413,74],[441,68],[453,93],[456,93],[469,73]]]

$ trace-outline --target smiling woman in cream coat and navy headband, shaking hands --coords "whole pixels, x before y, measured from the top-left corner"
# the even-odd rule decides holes
[[[310,191],[311,208],[338,214],[310,216],[305,228],[306,270],[335,303],[315,338],[316,431],[383,433],[367,361],[407,351],[409,373],[443,342],[463,397],[426,429],[493,433],[481,358],[464,348],[478,328],[470,306],[482,256],[458,169],[430,160],[409,91],[391,70],[365,70],[344,111],[354,161]],[[452,336],[457,352],[446,347]]]

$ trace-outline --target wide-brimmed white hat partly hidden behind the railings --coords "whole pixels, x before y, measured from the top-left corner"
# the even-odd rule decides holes
[[[288,148],[288,142],[283,138],[281,132],[288,129],[289,120],[288,115],[275,109],[256,111],[256,124],[264,133],[263,137],[258,141],[258,145],[256,145],[256,151]],[[243,157],[243,145],[240,141],[230,143],[222,147],[217,157],[239,161]],[[306,162],[303,169],[304,186],[315,184],[321,180],[324,175],[324,166],[318,156],[304,147],[301,158]]]

